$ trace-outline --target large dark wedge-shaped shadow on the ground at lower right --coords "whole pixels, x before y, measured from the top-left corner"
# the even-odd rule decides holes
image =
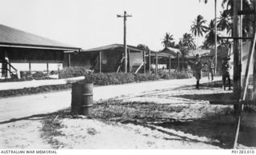
[[[255,120],[256,115],[251,116],[250,113],[250,118],[253,117]],[[190,133],[194,136],[217,140],[218,142],[213,142],[213,145],[218,145],[224,149],[231,149],[234,145],[236,124],[234,116],[226,115],[211,117],[206,120],[164,122],[158,125],[167,129]],[[249,147],[256,146],[255,126],[248,125],[248,117],[244,117],[242,120],[238,143]]]

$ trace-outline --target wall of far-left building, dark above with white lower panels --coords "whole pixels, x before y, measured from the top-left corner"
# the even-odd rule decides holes
[[[48,63],[49,70],[61,69],[64,54],[61,50],[0,47],[0,68],[2,68],[5,56],[18,71],[45,71],[47,70],[46,63]],[[11,71],[14,69],[11,68]]]

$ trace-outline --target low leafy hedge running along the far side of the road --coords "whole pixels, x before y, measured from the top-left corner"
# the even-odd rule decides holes
[[[109,73],[109,74],[80,74],[84,75],[87,83],[94,83],[94,85],[118,85],[124,83],[131,83],[137,81],[155,81],[162,79],[174,79],[174,78],[190,78],[192,74],[187,72],[180,73],[159,73],[159,74],[131,74],[131,73]],[[73,74],[74,75],[74,74]],[[30,93],[42,93],[59,89],[70,89],[71,85],[45,85],[36,88],[24,88],[24,89],[10,89],[0,91],[0,97],[14,96],[18,94],[30,94]]]

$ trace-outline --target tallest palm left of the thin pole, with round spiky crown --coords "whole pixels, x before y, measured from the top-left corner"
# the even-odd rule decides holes
[[[199,14],[198,17],[194,19],[190,31],[192,34],[194,34],[195,37],[202,37],[203,34],[205,34],[208,30],[205,24],[206,20],[202,17],[202,15]]]

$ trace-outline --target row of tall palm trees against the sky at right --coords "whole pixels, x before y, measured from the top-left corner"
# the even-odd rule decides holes
[[[254,10],[253,6],[254,0],[242,0],[243,10]],[[205,0],[207,3],[207,0]],[[210,49],[214,46],[215,30],[214,26],[217,24],[218,32],[222,32],[226,36],[232,34],[233,23],[232,23],[232,12],[233,12],[233,0],[222,0],[222,8],[220,16],[217,20],[210,20],[209,25],[206,25],[206,20],[201,14],[194,19],[192,25],[190,26],[191,33],[185,33],[182,35],[182,38],[179,39],[178,43],[174,42],[174,35],[166,33],[162,39],[162,45],[166,47],[177,48],[182,53],[182,61],[190,50],[197,49],[195,44],[195,38],[205,37],[202,46],[199,46],[200,49]],[[243,27],[242,35],[244,37],[250,37],[253,30],[254,17],[252,15],[244,15],[243,18]],[[217,34],[219,37],[220,33]],[[219,46],[226,46],[229,42],[218,38],[217,40]],[[182,63],[183,64],[183,63]]]

